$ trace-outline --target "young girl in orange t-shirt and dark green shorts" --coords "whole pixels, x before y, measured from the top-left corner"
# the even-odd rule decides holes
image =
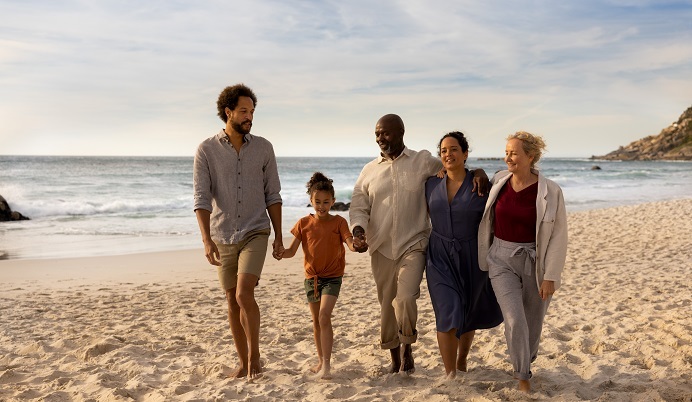
[[[322,379],[329,379],[334,344],[332,310],[339,296],[341,279],[346,267],[343,243],[346,243],[351,251],[355,251],[355,248],[346,219],[329,213],[336,201],[332,180],[316,172],[308,181],[307,188],[315,214],[301,218],[291,229],[295,238],[281,257],[293,257],[298,246],[303,244],[305,292],[312,313],[312,328],[319,359],[317,365],[310,370]]]

